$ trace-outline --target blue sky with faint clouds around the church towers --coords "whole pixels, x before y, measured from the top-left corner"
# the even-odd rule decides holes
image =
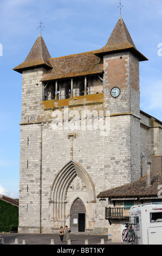
[[[162,2],[121,4],[135,46],[149,59],[140,63],[140,108],[162,121]],[[40,21],[51,57],[66,56],[105,46],[118,6],[119,0],[0,0],[0,193],[18,198],[22,75],[12,69],[27,57]]]

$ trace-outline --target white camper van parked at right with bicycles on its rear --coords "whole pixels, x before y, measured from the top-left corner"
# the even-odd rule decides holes
[[[129,214],[137,245],[162,245],[162,203],[134,205]]]

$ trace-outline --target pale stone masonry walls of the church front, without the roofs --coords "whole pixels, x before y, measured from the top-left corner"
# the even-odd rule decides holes
[[[20,156],[20,227],[29,232],[53,233],[58,230],[60,220],[51,220],[53,216],[52,186],[69,161],[75,161],[90,177],[97,194],[108,188],[134,181],[140,175],[140,122],[139,122],[139,85],[138,62],[131,54],[122,53],[105,57],[105,75],[103,77],[104,95],[94,95],[68,99],[59,105],[59,101],[43,103],[43,84],[40,82],[45,70],[23,71],[22,120],[21,120],[21,156]],[[132,75],[132,77],[131,77]],[[112,87],[118,86],[121,94],[117,99],[110,95]],[[130,102],[131,95],[131,102]],[[94,99],[93,99],[94,98]],[[136,102],[136,103],[132,103]],[[66,104],[68,102],[68,105]],[[65,106],[66,105],[66,106]],[[55,107],[54,107],[55,106]],[[70,115],[65,124],[64,107]],[[99,124],[99,113],[108,115],[109,131],[102,133],[95,127],[82,129],[75,126],[81,120],[81,111],[96,111],[97,117],[85,117],[88,122]],[[106,112],[108,111],[108,112]],[[60,113],[56,120],[56,113]],[[73,128],[73,129],[72,129]],[[68,137],[75,133],[73,141]],[[79,173],[77,173],[79,175]],[[76,175],[76,179],[77,179]],[[79,177],[81,180],[81,177]],[[76,180],[75,180],[76,181]],[[63,223],[70,225],[70,208],[73,192],[69,187],[62,195],[64,207]],[[93,187],[92,186],[92,187]],[[62,191],[62,190],[60,190]],[[87,188],[85,188],[87,191]],[[86,207],[86,229],[90,233],[107,233],[105,220],[107,202],[88,202],[88,195],[77,191],[74,199],[82,198]],[[65,203],[66,198],[68,199]],[[64,205],[64,206],[63,206]],[[63,212],[57,207],[57,213]],[[56,223],[57,222],[57,223]]]

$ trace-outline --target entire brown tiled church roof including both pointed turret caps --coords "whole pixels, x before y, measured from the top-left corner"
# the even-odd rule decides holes
[[[140,61],[147,60],[135,47],[128,29],[120,17],[106,46],[100,50],[51,58],[40,34],[28,57],[14,70],[22,73],[25,69],[46,66],[47,73],[41,81],[100,74],[103,71],[102,55],[122,51],[131,51]]]

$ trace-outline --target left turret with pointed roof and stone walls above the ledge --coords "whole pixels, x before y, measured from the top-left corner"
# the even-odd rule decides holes
[[[41,103],[43,100],[42,77],[48,69],[50,54],[41,36],[38,36],[28,57],[16,68],[22,74],[22,118],[21,123],[41,121]]]

